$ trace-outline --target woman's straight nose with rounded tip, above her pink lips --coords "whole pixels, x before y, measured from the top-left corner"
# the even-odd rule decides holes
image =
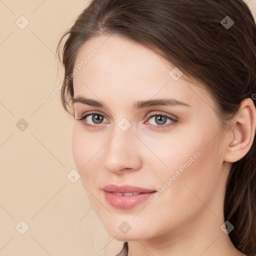
[[[104,147],[103,164],[108,171],[119,174],[141,168],[141,141],[133,132],[132,127],[127,131],[122,131],[119,127],[114,129],[111,139]]]

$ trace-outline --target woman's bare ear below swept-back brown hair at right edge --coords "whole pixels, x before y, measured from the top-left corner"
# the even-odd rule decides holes
[[[256,110],[251,98],[241,101],[239,110],[231,120],[232,127],[226,131],[224,161],[236,162],[250,149],[256,126]]]

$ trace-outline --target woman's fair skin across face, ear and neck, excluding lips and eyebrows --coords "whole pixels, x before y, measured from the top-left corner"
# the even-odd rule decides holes
[[[85,192],[106,231],[128,241],[129,255],[245,255],[220,226],[231,162],[242,158],[253,141],[253,101],[241,102],[231,129],[222,134],[207,90],[187,81],[185,74],[174,80],[169,75],[174,65],[152,50],[123,37],[101,35],[82,45],[75,65],[94,48],[98,54],[73,78],[74,97],[100,101],[106,108],[73,104],[72,150]],[[132,108],[135,101],[166,97],[191,106]],[[77,120],[89,111],[104,116],[100,124],[92,115],[84,120],[97,127]],[[157,128],[172,121],[160,125],[149,113],[178,121]],[[131,124],[127,131],[118,127],[123,118]],[[101,188],[106,184],[160,189],[197,151],[200,156],[154,202],[117,209],[105,201]],[[123,221],[131,226],[126,234],[118,229]]]

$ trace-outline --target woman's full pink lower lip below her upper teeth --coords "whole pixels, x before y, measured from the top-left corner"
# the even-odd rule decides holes
[[[115,208],[129,209],[148,199],[155,192],[141,193],[137,195],[116,195],[104,191],[106,201]]]

